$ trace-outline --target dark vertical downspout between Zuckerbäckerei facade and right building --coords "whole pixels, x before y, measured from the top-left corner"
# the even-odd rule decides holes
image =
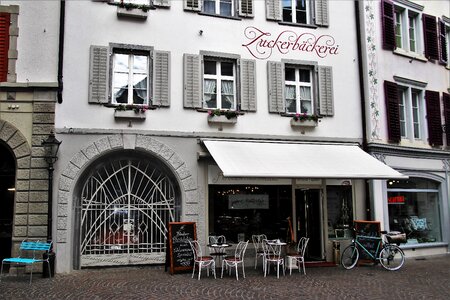
[[[364,67],[363,67],[363,56],[362,56],[362,41],[361,41],[361,19],[359,16],[359,0],[355,0],[355,22],[356,22],[356,45],[358,48],[358,77],[359,77],[359,97],[361,100],[361,126],[362,126],[362,149],[368,152],[367,146],[367,120],[366,120],[366,101],[365,101],[365,86],[364,86]],[[366,194],[366,220],[371,219],[371,203],[370,203],[370,192],[369,192],[369,182],[365,180],[365,194]]]

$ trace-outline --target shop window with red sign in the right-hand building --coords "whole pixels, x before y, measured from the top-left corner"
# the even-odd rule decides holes
[[[390,230],[406,233],[407,245],[442,241],[437,182],[389,180],[387,192]]]

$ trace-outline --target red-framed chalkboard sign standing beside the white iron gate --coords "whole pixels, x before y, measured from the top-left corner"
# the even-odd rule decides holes
[[[192,270],[194,256],[188,240],[196,240],[194,222],[169,223],[169,261],[170,274],[177,271]]]

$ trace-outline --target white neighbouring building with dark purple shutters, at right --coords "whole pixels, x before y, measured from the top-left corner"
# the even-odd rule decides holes
[[[409,176],[372,182],[372,218],[407,234],[407,256],[447,253],[450,2],[359,5],[368,151]]]

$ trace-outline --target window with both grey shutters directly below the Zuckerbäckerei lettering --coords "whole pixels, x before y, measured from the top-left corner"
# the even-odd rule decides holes
[[[333,76],[316,62],[268,62],[269,112],[333,116]]]

